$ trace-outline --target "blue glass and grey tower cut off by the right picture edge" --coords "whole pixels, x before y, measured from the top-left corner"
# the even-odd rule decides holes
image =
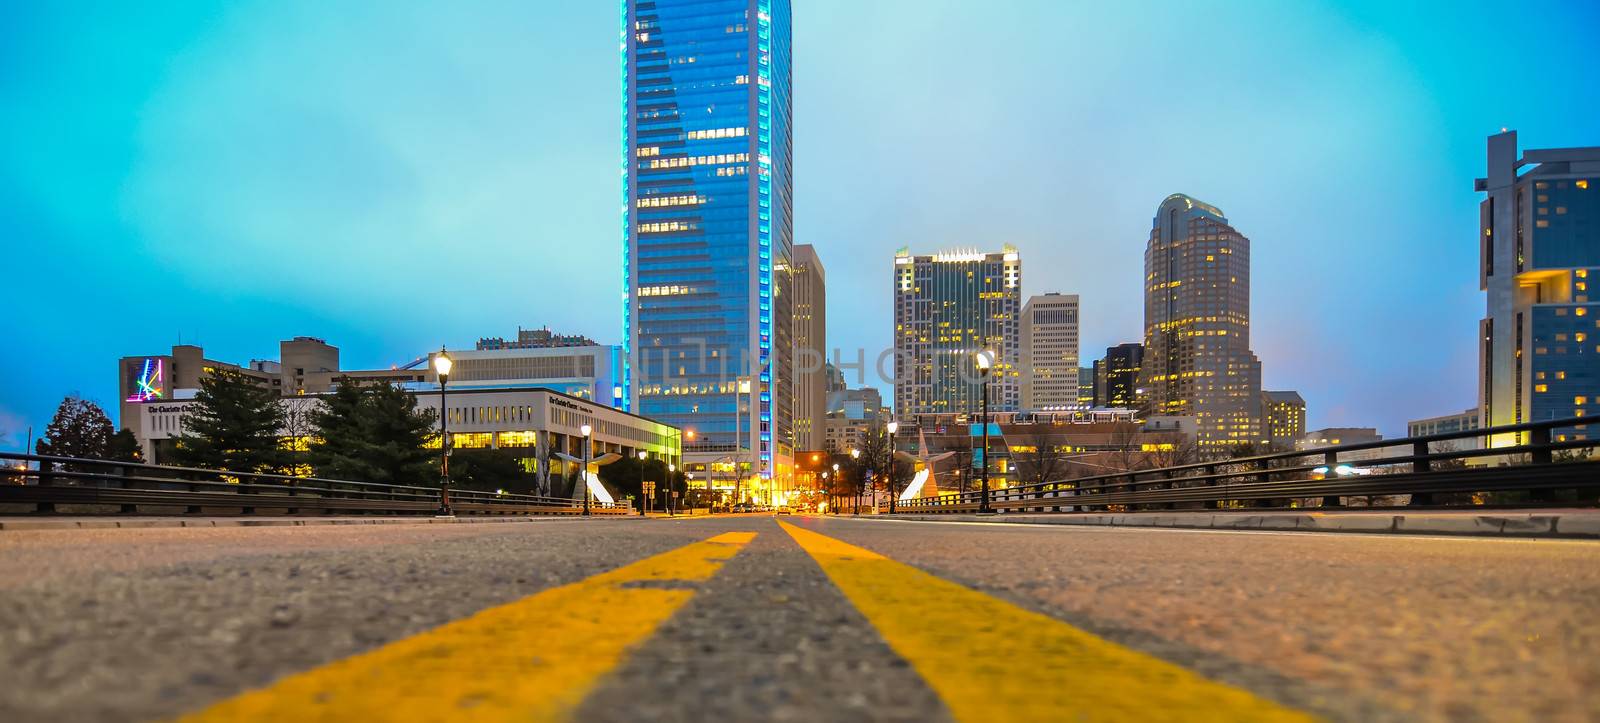
[[[1518,158],[1517,131],[1490,136],[1488,178],[1477,190],[1486,195],[1478,205],[1478,288],[1488,293],[1478,328],[1483,427],[1594,414],[1600,298],[1589,283],[1600,282],[1600,147]]]

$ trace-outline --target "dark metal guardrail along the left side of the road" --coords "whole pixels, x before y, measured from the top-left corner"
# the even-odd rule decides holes
[[[0,504],[30,504],[38,513],[61,507],[115,507],[122,513],[203,510],[430,515],[440,488],[379,485],[106,459],[0,453]],[[450,489],[450,507],[472,515],[581,515],[582,501],[533,494]],[[592,513],[627,515],[624,505],[590,502]]]

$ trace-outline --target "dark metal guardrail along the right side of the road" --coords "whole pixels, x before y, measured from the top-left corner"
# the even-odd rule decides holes
[[[989,493],[994,512],[1102,512],[1342,507],[1349,497],[1403,497],[1410,507],[1464,507],[1450,496],[1528,493],[1526,504],[1550,504],[1560,489],[1576,489],[1562,504],[1594,505],[1600,494],[1600,440],[1552,441],[1552,430],[1576,427],[1589,437],[1587,417],[1550,419],[1427,437],[1363,441],[1320,449],[1112,472],[1072,480],[1019,485]],[[1597,429],[1600,432],[1600,429]],[[1437,449],[1462,440],[1515,435],[1515,445]],[[1578,437],[1578,435],[1574,435]],[[1525,441],[1523,441],[1525,440]],[[1360,459],[1355,453],[1378,456]],[[1403,449],[1403,453],[1394,453]],[[1579,454],[1581,453],[1581,454]],[[1563,454],[1570,459],[1563,459]],[[1307,462],[1310,461],[1310,462]],[[1478,464],[1472,464],[1477,461]],[[1589,494],[1595,493],[1595,494]],[[978,512],[982,493],[899,501],[904,513]],[[1477,504],[1472,504],[1477,505]],[[878,512],[886,512],[880,509]]]

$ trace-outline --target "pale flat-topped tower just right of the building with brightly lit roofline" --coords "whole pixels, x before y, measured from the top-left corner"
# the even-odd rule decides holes
[[[1078,403],[1078,294],[1048,293],[1022,306],[1022,408]]]

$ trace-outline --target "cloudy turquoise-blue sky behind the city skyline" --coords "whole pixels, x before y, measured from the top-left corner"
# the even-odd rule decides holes
[[[1013,243],[1141,334],[1160,200],[1253,243],[1310,424],[1475,403],[1483,139],[1600,146],[1595,3],[795,0],[795,237],[882,349],[898,246]],[[5,3],[0,445],[173,342],[346,366],[619,323],[614,2]],[[870,358],[870,352],[869,352]]]

